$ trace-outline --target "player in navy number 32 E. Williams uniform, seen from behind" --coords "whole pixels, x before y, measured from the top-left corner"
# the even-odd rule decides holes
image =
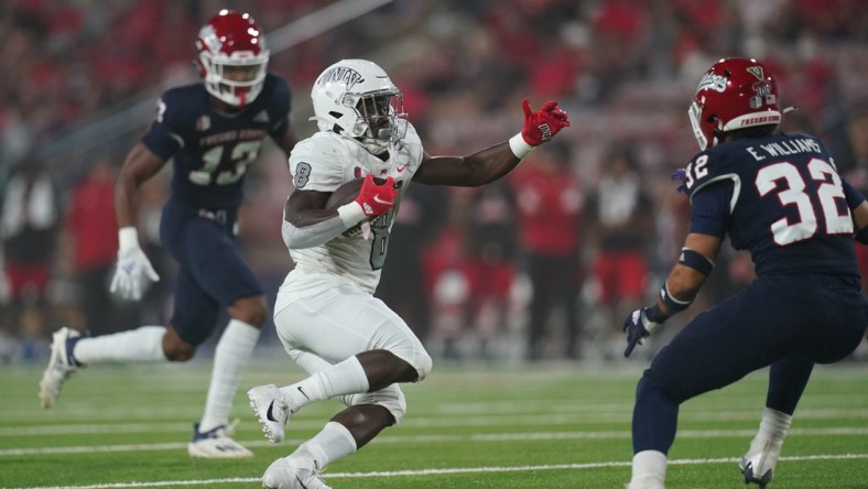
[[[778,87],[762,63],[714,64],[688,113],[702,149],[680,187],[690,233],[657,301],[625,320],[625,356],[690,306],[725,236],[750,251],[757,279],[697,315],[644,371],[628,488],[664,487],[682,402],[771,366],[759,431],[739,463],[746,483],[766,487],[814,363],[845,358],[868,326],[853,243],[868,242],[868,204],[820,140],[775,132]]]

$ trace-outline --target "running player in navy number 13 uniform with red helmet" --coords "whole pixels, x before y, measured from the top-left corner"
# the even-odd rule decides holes
[[[127,156],[115,196],[119,251],[111,291],[139,300],[147,281],[160,280],[137,236],[139,187],[173,162],[160,226],[162,243],[178,263],[171,322],[98,337],[62,328],[54,334],[40,398],[45,408],[53,405],[63,382],[83,366],[189,360],[225,307],[230,320],[216,347],[205,412],[194,425],[188,453],[249,457],[230,437],[227,422],[268,306],[236,244],[236,219],[245,174],[265,137],[287,156],[295,144],[291,94],[283,79],[268,73],[265,39],[247,13],[221,10],[202,28],[196,47],[203,83],[163,94],[155,121]]]

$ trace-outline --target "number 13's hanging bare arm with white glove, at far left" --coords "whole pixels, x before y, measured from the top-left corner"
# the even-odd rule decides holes
[[[165,161],[143,143],[137,143],[123,162],[115,185],[115,214],[118,219],[118,264],[110,290],[123,298],[138,301],[144,280],[156,282],[153,265],[139,244],[135,216],[139,210],[139,187],[163,167]]]

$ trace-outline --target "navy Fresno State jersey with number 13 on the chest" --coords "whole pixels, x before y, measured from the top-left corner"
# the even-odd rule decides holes
[[[270,73],[256,100],[237,113],[218,111],[202,83],[186,85],[162,95],[142,142],[164,161],[173,160],[173,198],[232,209],[241,204],[248,165],[267,135],[285,134],[289,113],[290,88]]]

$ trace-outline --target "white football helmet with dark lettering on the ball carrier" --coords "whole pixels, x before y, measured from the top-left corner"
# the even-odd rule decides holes
[[[406,134],[401,90],[389,75],[366,59],[341,59],[327,67],[311,90],[321,131],[333,131],[360,142],[372,154]]]

